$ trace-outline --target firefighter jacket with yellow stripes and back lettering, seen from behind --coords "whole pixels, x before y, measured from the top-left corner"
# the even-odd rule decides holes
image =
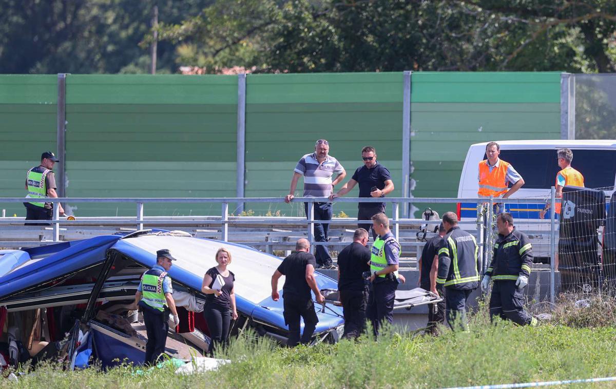
[[[479,247],[475,237],[460,227],[453,227],[443,240],[437,284],[452,289],[475,289],[479,286]]]

